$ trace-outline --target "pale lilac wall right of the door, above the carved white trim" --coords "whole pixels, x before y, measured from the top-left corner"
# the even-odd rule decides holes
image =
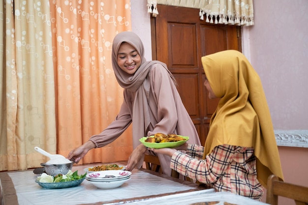
[[[255,25],[245,30],[275,130],[308,130],[307,10],[307,0],[255,0]]]

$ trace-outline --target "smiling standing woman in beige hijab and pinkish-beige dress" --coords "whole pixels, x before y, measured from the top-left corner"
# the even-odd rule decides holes
[[[92,148],[106,146],[116,140],[132,123],[133,152],[126,170],[140,168],[144,154],[154,154],[139,142],[155,133],[188,136],[187,142],[200,145],[195,126],[176,88],[176,81],[160,61],[147,61],[140,38],[131,31],[116,35],[112,45],[112,66],[116,79],[124,88],[124,100],[116,119],[100,134],[72,150],[67,158],[76,163]],[[157,154],[162,172],[171,175],[171,157]]]

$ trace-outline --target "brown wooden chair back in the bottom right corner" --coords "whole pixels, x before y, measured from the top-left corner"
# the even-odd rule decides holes
[[[293,199],[296,205],[308,205],[308,187],[279,181],[271,175],[267,181],[266,203],[278,205],[278,196]]]

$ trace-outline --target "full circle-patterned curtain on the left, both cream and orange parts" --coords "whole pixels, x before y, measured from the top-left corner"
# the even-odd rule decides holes
[[[111,47],[130,13],[130,0],[0,0],[0,171],[48,161],[34,146],[67,156],[114,120],[123,88]],[[131,151],[128,128],[79,163]]]

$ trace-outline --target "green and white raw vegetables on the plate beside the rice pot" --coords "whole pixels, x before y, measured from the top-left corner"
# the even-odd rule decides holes
[[[78,171],[75,171],[74,173],[69,170],[68,173],[66,175],[62,175],[59,174],[57,176],[50,176],[47,175],[46,173],[43,173],[41,176],[37,177],[37,180],[39,182],[64,182],[64,181],[74,181],[74,180],[78,180],[78,179],[82,179],[85,178],[87,175],[87,173],[83,174],[83,175],[78,175]]]

